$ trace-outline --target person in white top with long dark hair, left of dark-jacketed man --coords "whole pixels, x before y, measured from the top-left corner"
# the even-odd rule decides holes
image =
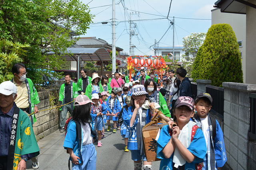
[[[172,104],[171,108],[174,108],[174,104],[178,98],[179,91],[180,91],[180,80],[178,78],[175,78],[174,84],[172,84],[172,87],[170,88],[170,95],[169,95],[169,101],[168,101],[168,105]],[[171,109],[171,116],[173,117],[172,109]]]

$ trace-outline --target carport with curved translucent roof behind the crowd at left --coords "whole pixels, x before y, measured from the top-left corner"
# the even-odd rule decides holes
[[[101,74],[103,72],[103,62],[112,61],[108,51],[104,48],[84,48],[84,47],[70,47],[67,48],[68,53],[73,55],[63,55],[66,61],[76,61],[77,62],[77,74],[79,77],[80,63],[81,61],[101,61]],[[52,51],[47,53],[48,55],[54,54]]]

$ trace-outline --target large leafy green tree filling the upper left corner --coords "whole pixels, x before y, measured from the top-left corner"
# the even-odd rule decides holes
[[[60,69],[69,54],[67,47],[86,33],[92,15],[80,0],[4,0],[0,1],[0,37],[26,47],[20,55],[33,82],[40,81],[38,68]],[[54,55],[47,55],[53,51]]]

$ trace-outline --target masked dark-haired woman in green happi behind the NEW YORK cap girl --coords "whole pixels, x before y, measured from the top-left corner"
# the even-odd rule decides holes
[[[144,87],[146,88],[146,92],[148,92],[148,94],[146,94],[146,97],[149,98],[150,102],[158,103],[161,106],[160,111],[162,111],[164,115],[171,117],[164,97],[159,91],[156,90],[157,87],[156,83],[154,83],[154,80],[152,78],[146,80]]]

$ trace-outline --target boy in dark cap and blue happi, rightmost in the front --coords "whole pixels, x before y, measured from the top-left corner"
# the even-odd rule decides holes
[[[212,107],[212,96],[208,93],[200,93],[195,100],[197,113],[194,119],[204,133],[207,146],[207,154],[204,159],[203,170],[220,169],[227,161],[223,139],[223,133],[218,121],[209,113]],[[212,127],[212,128],[211,128]]]

